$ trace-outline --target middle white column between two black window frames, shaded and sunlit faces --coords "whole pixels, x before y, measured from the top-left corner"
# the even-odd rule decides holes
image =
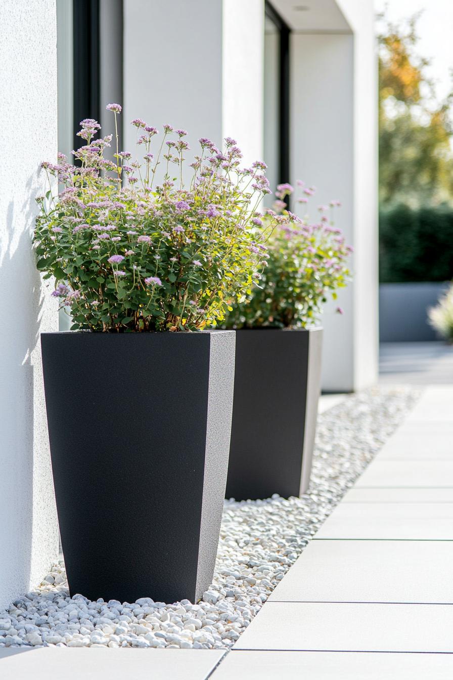
[[[124,149],[143,118],[217,146],[234,137],[244,163],[263,153],[263,0],[124,1]],[[188,164],[187,164],[188,165]],[[190,170],[190,169],[189,169]]]

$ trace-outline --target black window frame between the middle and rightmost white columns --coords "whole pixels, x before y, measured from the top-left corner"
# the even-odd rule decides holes
[[[289,182],[289,35],[291,29],[269,0],[264,12],[278,31],[278,182]]]

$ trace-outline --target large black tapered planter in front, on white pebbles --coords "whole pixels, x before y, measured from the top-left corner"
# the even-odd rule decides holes
[[[194,602],[225,496],[234,332],[43,333],[69,590]]]

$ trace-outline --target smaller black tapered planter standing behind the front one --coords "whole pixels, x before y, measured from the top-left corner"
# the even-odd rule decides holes
[[[288,498],[306,491],[322,335],[322,328],[236,331],[227,498]]]

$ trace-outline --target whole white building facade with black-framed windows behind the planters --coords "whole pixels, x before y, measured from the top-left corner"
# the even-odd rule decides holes
[[[340,199],[354,280],[323,315],[325,391],[376,381],[378,238],[372,0],[3,0],[0,33],[2,606],[58,548],[39,354],[58,311],[31,252],[39,163],[56,160],[57,135],[70,154],[81,118],[110,132],[105,105],[117,101],[124,149],[137,116],[184,127],[191,146],[229,135],[244,163],[266,160],[271,185],[314,184],[314,209]]]

